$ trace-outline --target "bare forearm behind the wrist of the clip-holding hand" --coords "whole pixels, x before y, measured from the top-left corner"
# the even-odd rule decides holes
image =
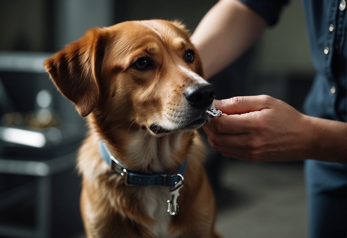
[[[312,159],[347,163],[347,123],[307,116],[312,128]]]

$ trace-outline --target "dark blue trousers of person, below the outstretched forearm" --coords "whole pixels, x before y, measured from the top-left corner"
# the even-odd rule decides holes
[[[305,161],[310,238],[346,238],[347,167]]]

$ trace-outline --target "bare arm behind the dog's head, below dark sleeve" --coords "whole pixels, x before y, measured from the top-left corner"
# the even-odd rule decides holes
[[[192,42],[206,78],[235,61],[263,33],[265,20],[244,3],[220,0],[195,29]]]

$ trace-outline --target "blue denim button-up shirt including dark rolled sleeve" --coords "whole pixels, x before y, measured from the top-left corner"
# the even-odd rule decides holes
[[[276,24],[288,0],[240,0]],[[310,116],[346,121],[346,1],[303,0],[308,41],[317,71],[304,102]]]

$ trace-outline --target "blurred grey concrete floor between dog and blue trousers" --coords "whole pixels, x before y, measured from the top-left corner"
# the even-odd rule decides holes
[[[307,237],[302,163],[230,160],[217,192],[217,228],[223,237]]]

